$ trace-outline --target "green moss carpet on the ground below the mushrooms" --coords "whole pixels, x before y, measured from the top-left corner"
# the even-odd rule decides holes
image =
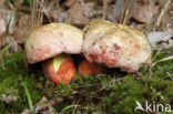
[[[172,55],[172,50],[164,50],[153,62]],[[169,76],[173,75],[173,60],[160,62],[152,69],[142,68],[139,72],[141,77],[119,71],[113,75],[111,71],[110,75],[77,75],[68,85],[55,85],[47,81],[41,71],[26,69],[22,52],[11,54],[3,62],[6,69],[0,71],[0,94],[13,94],[18,101],[12,104],[0,102],[2,113],[19,113],[29,107],[21,82],[27,84],[33,103],[43,95],[49,100],[62,97],[63,102],[54,105],[57,112],[78,104],[81,107],[75,108],[74,113],[142,114],[140,111],[134,112],[135,101],[142,104],[154,101],[173,106],[173,81]]]

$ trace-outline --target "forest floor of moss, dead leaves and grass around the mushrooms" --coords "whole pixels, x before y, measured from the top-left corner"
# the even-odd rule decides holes
[[[144,9],[147,3],[153,3],[150,0],[139,0],[140,6],[146,4],[143,4],[144,8],[133,8],[134,11],[130,9],[132,9],[132,4],[136,6],[136,2],[126,0],[128,4],[124,2],[123,8],[125,9],[121,9],[121,11],[129,12],[130,10],[129,14],[115,11],[116,3],[121,0],[116,0],[116,3],[112,0],[108,0],[108,2],[106,0],[103,0],[104,2],[102,0],[82,2],[83,0],[81,0],[81,4],[77,2],[80,0],[67,0],[65,2],[60,0],[59,4],[55,0],[50,1],[44,1],[43,4],[40,2],[35,9],[32,6],[34,0],[0,1],[0,8],[2,8],[0,9],[0,22],[6,21],[7,23],[4,28],[0,23],[0,114],[22,112],[23,114],[30,114],[30,112],[32,114],[142,114],[147,112],[134,110],[138,103],[144,106],[145,102],[152,105],[153,113],[154,108],[162,111],[162,107],[157,108],[156,104],[163,104],[163,114],[166,114],[166,104],[170,104],[171,110],[173,110],[172,42],[169,42],[169,48],[161,45],[156,49],[152,48],[152,63],[141,68],[138,73],[131,74],[111,69],[108,74],[83,77],[77,74],[70,84],[55,85],[44,77],[40,63],[29,69],[23,59],[23,45],[28,31],[35,24],[63,21],[83,28],[90,20],[102,18],[132,25],[146,34],[152,31],[172,30],[173,11],[169,9],[171,7],[167,7],[173,4],[171,0],[165,0],[167,2],[164,3],[162,3],[164,0],[154,2],[155,9],[159,8],[156,11],[152,10],[152,18],[145,17],[145,20],[135,10],[140,9],[141,13],[150,15],[151,12],[149,13]],[[130,1],[132,1],[131,6],[129,6]],[[59,9],[55,9],[54,6],[58,6]],[[41,12],[37,11],[38,9]],[[37,14],[33,13],[33,10]],[[166,19],[162,19],[162,13]],[[78,21],[74,21],[77,19]],[[28,20],[34,25],[30,24]],[[169,37],[172,39],[173,35],[169,34]],[[164,43],[162,41],[155,42],[157,44]]]

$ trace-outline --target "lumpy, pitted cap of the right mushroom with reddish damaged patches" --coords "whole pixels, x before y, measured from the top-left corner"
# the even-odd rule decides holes
[[[82,52],[88,61],[136,72],[151,62],[147,38],[128,25],[93,20],[84,28]]]

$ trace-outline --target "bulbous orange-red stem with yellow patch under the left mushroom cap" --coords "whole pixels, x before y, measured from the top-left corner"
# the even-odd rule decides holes
[[[43,62],[44,75],[55,84],[68,84],[75,76],[77,70],[73,59],[68,54],[59,54]]]

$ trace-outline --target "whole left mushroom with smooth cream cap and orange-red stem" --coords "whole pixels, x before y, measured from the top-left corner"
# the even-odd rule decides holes
[[[69,83],[75,75],[70,55],[81,52],[83,32],[67,23],[50,23],[34,28],[26,42],[26,58],[30,64],[43,62],[44,74],[54,83]]]

